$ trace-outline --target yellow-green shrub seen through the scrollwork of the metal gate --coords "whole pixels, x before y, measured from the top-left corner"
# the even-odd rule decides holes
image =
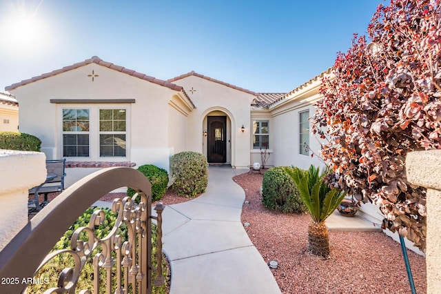
[[[92,216],[92,213],[94,210],[101,209],[105,212],[105,220],[104,223],[98,227],[95,226],[95,233],[97,237],[102,239],[107,234],[110,233],[110,230],[113,228],[115,221],[116,221],[116,213],[112,213],[112,211],[108,208],[88,208],[88,210],[85,210],[83,215],[76,219],[76,222],[70,226],[68,231],[61,237],[59,242],[54,246],[53,251],[61,250],[61,249],[70,249],[70,239],[72,237],[72,233],[76,230],[76,228],[82,227],[82,226],[88,226],[90,217]],[[152,265],[156,267],[156,232],[157,227],[155,224],[152,224]],[[127,225],[122,224],[119,226],[118,231],[116,231],[116,234],[121,235],[122,242],[127,241],[128,239],[128,229]],[[80,235],[81,237],[79,239],[87,240],[87,237],[85,237],[85,234]],[[100,248],[100,247],[99,247]],[[101,251],[102,248],[100,248]],[[79,281],[76,286],[76,290],[83,290],[83,289],[90,289],[92,291],[93,289],[93,277],[94,277],[94,267],[92,266],[92,260],[94,259],[94,256],[99,251],[92,252],[92,255],[90,255],[90,258],[88,259],[88,262],[85,264],[83,270],[80,273]],[[112,253],[112,257],[116,259],[116,254]],[[167,262],[165,259],[163,259],[163,275],[167,276]],[[53,259],[50,260],[43,268],[40,269],[40,271],[37,272],[35,277],[39,277],[42,281],[45,281],[44,283],[37,283],[37,284],[31,284],[28,286],[26,293],[43,293],[49,286],[56,286],[58,282],[58,277],[60,275],[60,272],[63,268],[67,267],[74,267],[74,259],[71,255],[68,254],[61,254],[57,255]],[[153,272],[152,280],[154,280],[156,277],[156,272]],[[103,268],[100,268],[100,278],[102,279],[100,281],[100,291],[99,293],[105,293],[105,270]],[[48,281],[48,283],[46,283]],[[152,293],[167,293],[167,282],[163,284],[163,286],[154,286]],[[112,286],[114,287],[116,285],[116,268],[112,268]],[[131,289],[131,285],[129,285]]]

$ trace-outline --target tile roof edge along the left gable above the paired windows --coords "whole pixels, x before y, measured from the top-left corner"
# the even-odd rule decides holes
[[[90,59],[86,59],[85,61],[81,61],[79,63],[74,63],[74,64],[72,64],[72,66],[65,66],[64,68],[60,68],[59,70],[53,70],[52,72],[46,72],[43,75],[39,75],[37,77],[32,77],[31,79],[25,79],[23,81],[20,81],[19,83],[12,84],[11,86],[7,86],[5,88],[5,90],[13,90],[14,88],[18,88],[20,86],[24,86],[26,84],[33,83],[34,81],[39,81],[40,79],[45,79],[46,77],[52,77],[54,75],[59,75],[63,72],[67,72],[67,71],[73,70],[75,68],[80,68],[81,66],[86,66],[90,63],[96,63],[96,64],[99,64],[100,66],[105,66],[107,68],[111,68],[112,70],[123,72],[127,75],[131,75],[133,77],[138,77],[139,79],[144,79],[145,81],[150,81],[154,84],[158,84],[158,85],[170,88],[172,90],[182,92],[183,95],[185,95],[185,97],[187,97],[187,99],[190,101],[190,103],[194,106],[192,100],[188,97],[188,95],[185,92],[185,90],[183,89],[183,87],[178,86],[176,84],[172,84],[169,81],[163,81],[162,79],[156,79],[155,77],[150,77],[148,75],[144,75],[141,72],[136,72],[134,70],[124,68],[123,66],[117,66],[116,64],[113,64],[113,63],[110,63],[107,61],[103,61],[102,59],[100,59],[99,57],[96,57],[96,56],[94,56]]]

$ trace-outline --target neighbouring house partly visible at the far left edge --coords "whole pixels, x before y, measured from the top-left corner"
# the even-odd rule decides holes
[[[19,130],[19,103],[13,95],[0,92],[0,131]]]

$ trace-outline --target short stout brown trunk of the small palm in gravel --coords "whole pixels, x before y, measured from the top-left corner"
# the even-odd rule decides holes
[[[329,237],[325,222],[311,222],[308,226],[308,249],[323,257],[329,255]]]

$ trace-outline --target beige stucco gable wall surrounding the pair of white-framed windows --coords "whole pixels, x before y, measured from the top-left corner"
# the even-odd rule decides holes
[[[94,81],[88,77],[92,70],[94,75],[98,75]],[[168,119],[171,113],[167,102],[176,95],[176,91],[170,88],[90,63],[10,92],[21,106],[20,131],[39,137],[42,141],[41,151],[48,159],[61,158],[63,155],[61,108],[98,107],[98,104],[52,104],[50,99],[135,99],[134,104],[102,105],[127,109],[127,157],[100,159],[98,148],[94,147],[90,158],[71,157],[68,160],[134,161],[137,166],[156,164],[168,170],[171,147],[169,124],[175,121]],[[96,138],[92,141],[91,137],[91,148],[98,146],[99,140]]]

